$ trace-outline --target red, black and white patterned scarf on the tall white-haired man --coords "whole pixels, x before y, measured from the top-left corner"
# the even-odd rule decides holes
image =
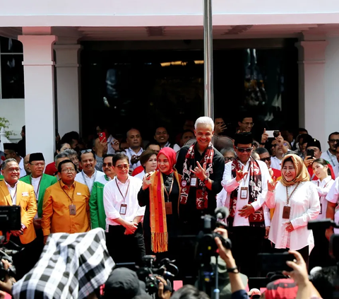
[[[184,168],[182,169],[182,192],[180,194],[180,204],[186,204],[187,199],[189,198],[189,189],[191,187],[191,170],[196,167],[196,161],[194,159],[194,143],[190,146],[189,151],[187,151],[184,161]],[[200,161],[201,166],[203,163],[206,163],[206,176],[210,177],[210,174],[213,173],[213,156],[214,149],[213,144],[210,142],[208,148],[206,149],[205,156]],[[203,210],[208,208],[208,192],[206,190],[206,185],[203,181],[196,178],[196,209]]]

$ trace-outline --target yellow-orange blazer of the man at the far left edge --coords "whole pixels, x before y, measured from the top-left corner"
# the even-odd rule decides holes
[[[21,208],[21,223],[26,227],[23,230],[23,235],[20,235],[20,241],[23,244],[28,244],[37,238],[33,225],[33,219],[37,213],[37,199],[35,199],[32,185],[18,181],[16,205]],[[11,194],[9,194],[4,180],[0,180],[0,206],[13,206]]]

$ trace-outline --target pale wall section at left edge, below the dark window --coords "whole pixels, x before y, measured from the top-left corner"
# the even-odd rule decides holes
[[[0,99],[0,117],[6,117],[11,123],[9,131],[13,131],[11,141],[21,139],[21,128],[25,125],[25,100],[24,99]]]

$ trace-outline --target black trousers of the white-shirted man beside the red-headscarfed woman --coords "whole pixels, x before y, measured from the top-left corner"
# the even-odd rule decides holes
[[[141,223],[133,235],[124,235],[126,228],[122,225],[109,225],[106,245],[115,263],[135,262],[142,264],[145,256],[145,242]]]

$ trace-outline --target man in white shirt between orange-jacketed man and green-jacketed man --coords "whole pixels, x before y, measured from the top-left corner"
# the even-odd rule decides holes
[[[76,182],[85,184],[90,192],[92,192],[92,187],[95,180],[99,177],[103,177],[105,173],[95,170],[97,161],[95,160],[95,154],[91,149],[81,151],[79,162],[83,170],[76,175]]]

